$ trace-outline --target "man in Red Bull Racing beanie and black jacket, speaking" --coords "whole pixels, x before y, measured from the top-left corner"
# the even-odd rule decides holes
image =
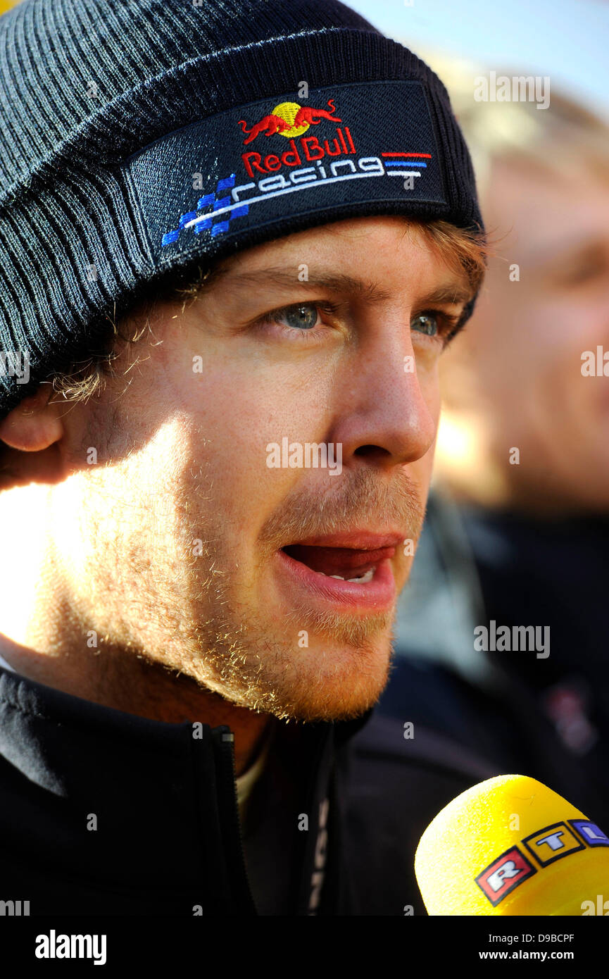
[[[486,773],[370,718],[484,270],[445,89],[326,0],[51,13],[0,21],[3,892],[420,911]]]

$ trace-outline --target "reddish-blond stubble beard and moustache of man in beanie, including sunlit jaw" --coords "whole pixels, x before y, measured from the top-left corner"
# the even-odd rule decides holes
[[[149,467],[146,459],[142,466]],[[122,480],[125,487],[138,485],[129,465]],[[125,656],[137,653],[189,676],[229,703],[279,719],[360,716],[376,703],[391,671],[395,608],[365,617],[312,608],[261,610],[256,583],[290,540],[363,524],[406,527],[418,539],[423,507],[416,488],[405,472],[390,488],[359,470],[332,497],[326,492],[315,501],[310,490],[300,490],[263,525],[248,582],[230,570],[239,555],[230,550],[221,518],[211,516],[217,511],[206,486],[204,471],[191,470],[189,480],[164,494],[143,494],[139,505],[128,499],[131,519],[135,503],[140,526],[131,526],[126,538],[117,534],[106,541],[99,554],[106,568],[118,563],[123,569],[122,594],[114,582],[106,596],[110,620],[112,612],[115,624],[121,620],[117,647]]]

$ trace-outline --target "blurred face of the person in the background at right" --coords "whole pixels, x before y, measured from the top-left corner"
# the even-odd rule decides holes
[[[606,511],[609,381],[582,354],[609,350],[609,184],[496,163],[485,216],[507,237],[466,337],[494,451],[518,492]]]

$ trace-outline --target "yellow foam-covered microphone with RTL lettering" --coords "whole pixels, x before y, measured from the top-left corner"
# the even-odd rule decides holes
[[[414,868],[430,914],[581,915],[609,898],[609,836],[535,778],[497,775],[430,822]]]

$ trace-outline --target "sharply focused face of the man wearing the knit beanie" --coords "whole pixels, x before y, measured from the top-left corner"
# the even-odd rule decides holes
[[[433,294],[455,283],[416,225],[362,218],[158,307],[136,365],[121,354],[64,419],[55,541],[87,629],[277,717],[370,707],[430,482],[443,314],[463,305]],[[320,443],[329,465],[307,465]]]

